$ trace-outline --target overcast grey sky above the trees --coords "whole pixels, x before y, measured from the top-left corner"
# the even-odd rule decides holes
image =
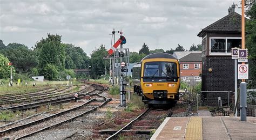
[[[63,43],[90,56],[101,44],[110,49],[114,28],[123,32],[130,51],[138,52],[144,42],[150,50],[178,44],[189,49],[201,43],[201,29],[226,16],[233,2],[240,6],[238,0],[0,0],[0,39],[33,47],[47,33],[59,34]]]

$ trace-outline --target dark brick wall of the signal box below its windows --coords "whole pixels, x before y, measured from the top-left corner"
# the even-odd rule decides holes
[[[231,56],[202,57],[202,91],[234,91],[234,60]],[[208,69],[211,68],[212,72]],[[228,93],[203,93],[205,105],[218,106],[218,97],[223,104],[228,101]]]

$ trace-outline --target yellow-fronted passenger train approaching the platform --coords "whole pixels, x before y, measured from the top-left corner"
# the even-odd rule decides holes
[[[167,53],[145,56],[132,68],[134,93],[149,106],[175,105],[179,100],[180,68],[176,57]]]

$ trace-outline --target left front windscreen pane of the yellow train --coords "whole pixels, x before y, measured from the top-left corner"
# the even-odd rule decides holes
[[[145,63],[145,77],[159,77],[159,62],[147,62]]]

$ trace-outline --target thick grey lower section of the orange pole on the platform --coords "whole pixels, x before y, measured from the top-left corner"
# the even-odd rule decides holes
[[[247,108],[247,95],[246,95],[246,83],[240,83],[240,119],[246,121],[246,108]]]

